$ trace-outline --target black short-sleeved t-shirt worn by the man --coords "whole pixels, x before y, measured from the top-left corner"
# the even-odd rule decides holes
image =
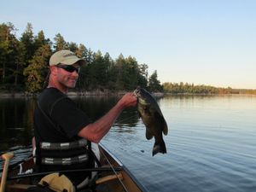
[[[34,112],[34,133],[37,143],[76,140],[79,131],[88,124],[88,116],[60,90],[47,88],[38,97]]]

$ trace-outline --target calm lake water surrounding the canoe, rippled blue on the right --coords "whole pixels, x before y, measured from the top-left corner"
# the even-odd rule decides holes
[[[74,98],[92,120],[113,97]],[[167,154],[152,157],[153,140],[134,109],[125,110],[102,143],[148,191],[256,191],[256,96],[166,96],[158,100],[169,126]],[[30,153],[32,99],[0,99],[0,151],[14,161]]]

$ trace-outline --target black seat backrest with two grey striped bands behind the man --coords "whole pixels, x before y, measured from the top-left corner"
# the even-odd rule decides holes
[[[91,143],[82,138],[70,143],[37,143],[36,172],[58,172],[95,167],[96,156]],[[90,180],[91,172],[68,172],[65,175],[79,186],[84,179]],[[88,179],[89,178],[89,179]],[[84,183],[87,184],[87,183]]]

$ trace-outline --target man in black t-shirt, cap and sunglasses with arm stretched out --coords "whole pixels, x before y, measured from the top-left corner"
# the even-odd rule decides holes
[[[49,84],[38,97],[38,105],[34,112],[37,148],[42,142],[68,143],[81,138],[91,143],[99,143],[119,113],[125,108],[136,106],[137,97],[132,93],[126,93],[101,119],[90,122],[87,115],[66,96],[67,90],[75,87],[79,69],[85,64],[83,59],[78,58],[70,50],[57,51],[50,57]]]

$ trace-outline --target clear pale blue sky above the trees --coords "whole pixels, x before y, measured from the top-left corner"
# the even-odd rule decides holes
[[[161,83],[256,89],[256,1],[8,0],[0,22],[113,59],[131,55],[157,70]]]

